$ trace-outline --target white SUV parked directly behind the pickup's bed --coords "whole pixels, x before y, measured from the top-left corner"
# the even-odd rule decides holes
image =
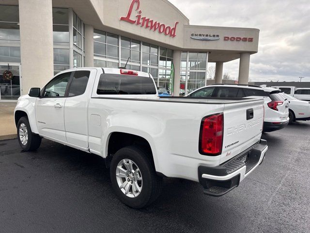
[[[263,98],[265,116],[263,132],[283,129],[289,123],[289,101],[281,90],[271,87],[241,84],[214,84],[201,87],[187,95],[195,98]]]

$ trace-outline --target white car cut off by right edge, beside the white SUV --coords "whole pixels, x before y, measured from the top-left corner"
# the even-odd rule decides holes
[[[289,117],[290,123],[296,120],[310,120],[310,102],[298,100],[291,95],[280,93],[285,99],[290,101]]]

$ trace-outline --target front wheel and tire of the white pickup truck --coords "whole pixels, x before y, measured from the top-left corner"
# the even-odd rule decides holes
[[[32,133],[28,118],[25,116],[18,120],[17,140],[19,146],[24,151],[37,150],[41,145],[42,138],[39,135]]]

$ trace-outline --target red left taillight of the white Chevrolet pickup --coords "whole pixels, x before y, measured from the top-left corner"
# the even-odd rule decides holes
[[[203,117],[200,128],[199,152],[204,155],[221,154],[223,130],[223,113]]]

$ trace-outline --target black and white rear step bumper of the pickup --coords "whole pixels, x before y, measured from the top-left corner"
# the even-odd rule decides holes
[[[263,139],[233,159],[216,167],[199,166],[199,183],[206,195],[220,197],[237,187],[264,159],[268,150]]]

